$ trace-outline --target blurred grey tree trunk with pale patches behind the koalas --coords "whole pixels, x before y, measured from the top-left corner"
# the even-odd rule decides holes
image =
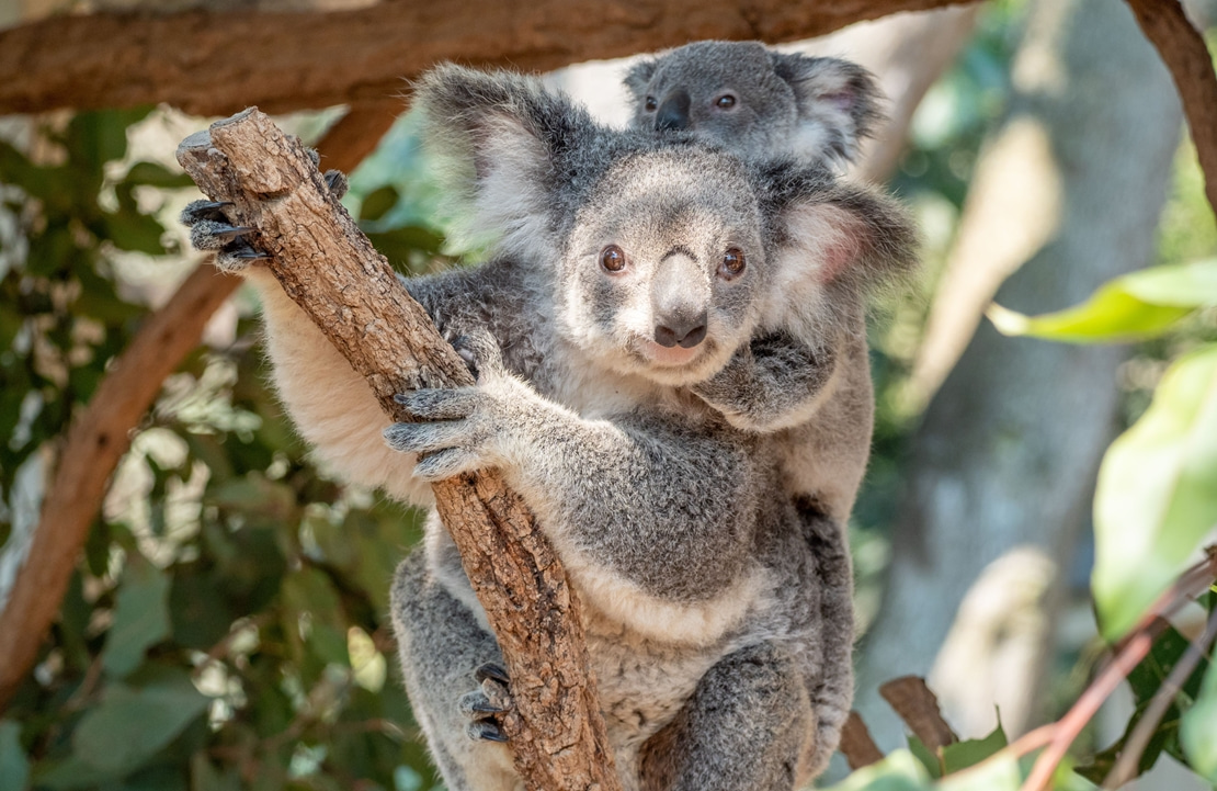
[[[992,267],[1025,251],[997,298],[1041,313],[1150,263],[1180,112],[1157,54],[1110,0],[1034,4],[1014,83],[969,195],[958,245],[971,252],[959,264]],[[1054,591],[1116,430],[1126,355],[1006,338],[983,324],[930,404],[859,680],[881,746],[898,730],[873,690],[893,675],[927,674],[964,736],[987,733],[994,699],[1010,733],[1038,714],[1028,701],[1038,700]],[[993,595],[968,595],[982,577]]]

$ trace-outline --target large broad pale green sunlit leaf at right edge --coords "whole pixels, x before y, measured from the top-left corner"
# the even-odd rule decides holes
[[[1217,344],[1171,366],[1103,460],[1090,578],[1104,636],[1123,635],[1217,523]]]

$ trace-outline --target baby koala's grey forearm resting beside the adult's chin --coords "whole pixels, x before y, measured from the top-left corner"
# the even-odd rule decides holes
[[[770,433],[807,422],[828,396],[834,346],[812,348],[787,332],[753,338],[692,392],[744,431]]]

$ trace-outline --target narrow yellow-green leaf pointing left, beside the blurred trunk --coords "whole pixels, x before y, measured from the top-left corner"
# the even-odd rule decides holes
[[[1161,335],[1191,310],[1210,304],[1217,304],[1217,260],[1116,277],[1082,304],[1056,313],[1027,316],[994,304],[988,318],[1005,335],[1104,343]]]

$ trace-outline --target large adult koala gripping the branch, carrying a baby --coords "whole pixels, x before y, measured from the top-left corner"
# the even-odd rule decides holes
[[[503,472],[584,602],[627,791],[806,782],[851,694],[852,634],[825,628],[823,604],[848,585],[834,578],[836,528],[785,494],[773,434],[690,388],[764,326],[789,259],[848,270],[860,248],[840,226],[898,236],[903,213],[823,167],[602,128],[515,74],[444,66],[415,99],[471,226],[501,229],[484,263],[404,280],[477,377],[403,394],[417,422],[391,423],[249,265],[257,239],[240,218],[187,208],[196,246],[262,294],[287,411],[338,472],[413,503],[432,481]],[[448,787],[522,787],[497,723],[510,679],[434,515],[392,593],[406,690]]]

